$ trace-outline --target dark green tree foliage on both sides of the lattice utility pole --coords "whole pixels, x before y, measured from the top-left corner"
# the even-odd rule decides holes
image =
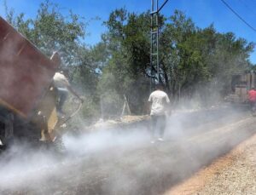
[[[109,60],[102,77],[111,72],[114,79],[108,84],[100,80],[99,85],[115,89],[120,98],[122,94],[128,95],[133,111],[142,112],[143,100],[147,100],[150,91],[150,14],[117,9],[105,25]],[[173,100],[195,94],[203,97],[211,90],[224,95],[230,87],[231,75],[251,66],[248,57],[253,46],[231,32],[217,32],[213,25],[198,28],[178,10],[169,18],[160,15],[159,82],[166,86]]]

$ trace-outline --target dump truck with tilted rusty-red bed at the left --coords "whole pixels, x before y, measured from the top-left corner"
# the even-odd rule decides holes
[[[49,59],[0,17],[0,146],[15,139],[56,141],[53,76],[60,64],[59,54]]]

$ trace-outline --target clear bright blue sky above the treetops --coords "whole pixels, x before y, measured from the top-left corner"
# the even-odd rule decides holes
[[[26,17],[35,17],[38,6],[44,0],[7,0],[9,8],[15,9],[15,13],[24,12]],[[87,20],[100,17],[101,20],[90,20],[85,37],[85,43],[95,44],[101,40],[101,34],[106,29],[102,21],[108,20],[108,15],[113,9],[125,7],[130,12],[142,13],[150,9],[151,0],[50,0],[58,3],[61,12],[67,13],[69,9],[73,13],[84,16]],[[159,0],[164,3],[165,0]],[[255,0],[225,0],[247,23],[256,29],[256,1]],[[173,14],[174,9],[180,9],[192,18],[196,26],[207,27],[213,23],[218,32],[234,32],[237,37],[243,37],[248,42],[256,43],[256,32],[233,14],[221,0],[169,0],[161,13],[166,16]],[[0,15],[4,17],[3,0],[0,0]],[[256,64],[256,52],[250,57]]]

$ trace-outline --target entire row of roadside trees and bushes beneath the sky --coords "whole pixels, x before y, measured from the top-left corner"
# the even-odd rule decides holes
[[[102,21],[107,32],[94,46],[84,19],[72,11],[62,14],[45,1],[35,18],[6,8],[6,19],[44,54],[61,54],[70,80],[84,95],[82,118],[119,116],[127,97],[133,114],[144,114],[150,92],[150,14],[113,10]],[[86,37],[86,39],[85,39]],[[210,25],[199,28],[182,11],[160,16],[160,83],[172,102],[196,100],[210,106],[230,93],[232,74],[253,68],[249,55],[254,43]],[[211,97],[211,99],[206,99]]]

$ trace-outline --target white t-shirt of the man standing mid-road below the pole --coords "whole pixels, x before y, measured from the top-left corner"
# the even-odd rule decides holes
[[[168,95],[164,91],[155,90],[149,95],[148,101],[152,103],[150,115],[164,115],[166,104],[170,103]]]

